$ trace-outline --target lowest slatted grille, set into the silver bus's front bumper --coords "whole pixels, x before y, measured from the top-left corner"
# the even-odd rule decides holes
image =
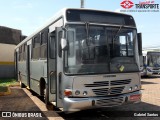
[[[117,106],[117,105],[121,105],[122,103],[123,103],[123,97],[106,98],[106,99],[100,99],[96,101],[96,105],[102,106],[102,107]]]

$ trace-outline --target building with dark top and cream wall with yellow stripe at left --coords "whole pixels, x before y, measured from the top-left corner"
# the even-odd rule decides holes
[[[21,30],[0,26],[0,78],[14,78],[14,48],[24,39]]]

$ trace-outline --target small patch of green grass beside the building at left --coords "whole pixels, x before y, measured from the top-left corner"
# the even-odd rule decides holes
[[[0,86],[14,86],[19,85],[15,79],[0,79]]]

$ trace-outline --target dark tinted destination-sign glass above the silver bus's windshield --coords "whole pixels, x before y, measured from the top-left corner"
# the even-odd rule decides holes
[[[133,17],[118,13],[92,10],[67,10],[67,21],[82,21],[135,26]]]

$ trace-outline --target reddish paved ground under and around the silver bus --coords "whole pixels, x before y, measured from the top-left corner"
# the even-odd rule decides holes
[[[43,111],[44,117],[40,119],[51,119],[51,120],[159,120],[160,119],[160,76],[153,76],[150,78],[142,78],[142,102],[138,104],[119,106],[107,109],[94,109],[85,110],[72,114],[64,114],[60,111],[50,110],[48,111],[37,96],[32,94],[27,89],[21,89],[19,87],[11,88],[11,95],[0,96],[0,111]],[[111,115],[110,111],[118,113],[118,117]],[[130,111],[135,113],[147,113],[148,111],[157,113],[159,117],[122,117],[129,116]],[[122,115],[120,115],[122,114]],[[133,114],[133,112],[131,112]],[[110,117],[111,116],[111,117]],[[114,116],[114,117],[113,117]],[[1,118],[6,119],[6,118]],[[9,119],[9,118],[8,118]],[[28,119],[28,118],[19,118]],[[36,119],[36,118],[30,118]],[[15,118],[17,120],[17,118]]]

